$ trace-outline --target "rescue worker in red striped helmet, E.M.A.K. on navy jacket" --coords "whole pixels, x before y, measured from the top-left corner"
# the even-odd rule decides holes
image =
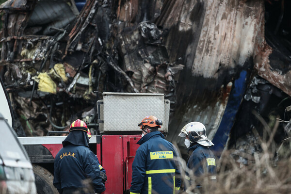
[[[60,194],[102,193],[102,183],[96,155],[89,148],[88,128],[80,119],[74,121],[69,135],[63,141],[63,148],[58,152],[54,162],[53,185]],[[91,181],[93,189],[85,183]]]

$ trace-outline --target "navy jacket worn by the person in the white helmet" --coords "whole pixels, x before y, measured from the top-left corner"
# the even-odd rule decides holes
[[[190,155],[187,167],[192,169],[195,177],[208,174],[210,179],[216,179],[215,156],[212,151],[200,144],[195,144],[188,149]],[[190,180],[190,175],[186,172],[186,179]]]

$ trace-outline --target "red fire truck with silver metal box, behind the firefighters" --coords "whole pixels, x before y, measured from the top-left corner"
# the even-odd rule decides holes
[[[168,132],[170,101],[163,94],[103,93],[97,101],[98,128],[89,147],[106,170],[104,194],[129,193],[135,152],[142,131],[137,126],[147,115],[162,119]],[[90,125],[89,125],[90,126]],[[89,127],[90,128],[90,127]],[[95,135],[94,135],[95,134]],[[100,135],[97,135],[100,134]],[[33,164],[38,194],[58,193],[52,184],[53,163],[65,136],[18,137]]]

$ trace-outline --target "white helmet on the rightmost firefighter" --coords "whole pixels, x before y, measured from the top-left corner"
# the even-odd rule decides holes
[[[206,136],[205,126],[200,122],[188,123],[181,129],[179,136],[188,136],[191,143],[197,142],[202,146],[214,146],[214,144]]]

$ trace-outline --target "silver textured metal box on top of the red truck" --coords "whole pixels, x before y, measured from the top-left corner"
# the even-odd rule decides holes
[[[107,93],[104,92],[103,113],[101,115],[104,124],[100,125],[100,131],[140,131],[138,123],[148,115],[154,115],[162,119],[161,129],[168,131],[169,101],[164,101],[163,94],[143,93]],[[166,104],[166,105],[165,105]],[[102,129],[103,127],[103,129]]]

